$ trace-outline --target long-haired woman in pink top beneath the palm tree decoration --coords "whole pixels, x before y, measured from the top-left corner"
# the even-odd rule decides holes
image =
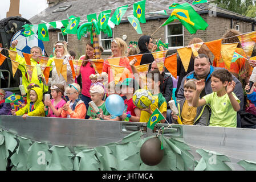
[[[92,45],[91,41],[88,41],[86,44],[86,55],[81,56],[80,60],[88,60],[94,59],[94,45]],[[86,108],[89,107],[89,102],[91,102],[90,97],[90,87],[92,81],[90,80],[90,75],[95,74],[95,69],[89,61],[83,61],[80,69],[80,73],[82,76],[82,98],[81,100],[84,101]],[[89,118],[86,116],[86,119]]]

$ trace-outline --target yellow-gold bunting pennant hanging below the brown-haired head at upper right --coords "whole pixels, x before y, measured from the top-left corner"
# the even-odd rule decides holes
[[[227,67],[230,69],[231,60],[233,58],[233,54],[235,49],[237,48],[238,43],[231,43],[231,44],[222,44],[221,45],[221,57]]]

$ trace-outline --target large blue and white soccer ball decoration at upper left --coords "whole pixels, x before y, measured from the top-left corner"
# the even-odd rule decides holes
[[[16,32],[16,34],[14,34],[13,38],[11,39],[11,42],[13,42],[13,40],[19,41],[18,45],[16,46],[18,55],[23,57],[22,52],[30,53],[30,49],[34,46],[40,47],[44,55],[44,46],[42,40],[39,40],[36,34],[28,36],[26,38],[26,36],[22,34],[23,31],[24,29],[19,30],[18,32]]]

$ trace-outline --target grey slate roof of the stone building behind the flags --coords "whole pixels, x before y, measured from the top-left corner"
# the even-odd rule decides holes
[[[97,16],[100,14],[101,11],[109,10],[111,9],[111,16],[115,12],[117,7],[129,5],[127,12],[123,16],[122,22],[127,22],[127,16],[133,15],[133,9],[132,4],[138,2],[138,0],[111,0],[111,1],[102,1],[102,0],[67,0],[64,2],[60,2],[55,6],[47,7],[44,13],[39,13],[38,15],[33,16],[30,18],[30,22],[32,24],[39,24],[43,23],[41,20],[44,20],[45,22],[54,22],[56,20],[63,20],[67,19],[69,16],[80,16],[80,23],[83,24],[87,22],[87,14],[93,14],[96,13]],[[166,10],[168,14],[170,14],[173,10],[169,10],[169,6],[173,3],[185,3],[189,2],[190,5],[196,10],[198,13],[208,13],[209,11],[209,4],[208,3],[202,3],[199,5],[192,5],[193,0],[176,0],[176,1],[166,1],[166,0],[147,0],[146,1],[146,19],[155,19],[155,18],[168,18],[169,15],[155,15],[155,14],[147,14],[147,12],[152,11],[160,11],[160,10]],[[72,5],[69,9],[63,12],[59,13],[53,13],[52,11],[58,9],[58,7],[61,6],[67,6]],[[254,22],[253,18],[248,18],[246,16],[233,13],[231,11],[227,11],[224,9],[221,9],[220,7],[217,7],[217,15],[220,14],[226,14],[230,15],[233,18],[242,18],[243,20],[247,20],[249,22]],[[45,15],[45,16],[42,16]]]

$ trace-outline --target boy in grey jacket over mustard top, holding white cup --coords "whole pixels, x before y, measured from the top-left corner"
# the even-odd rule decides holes
[[[180,117],[184,125],[202,125],[207,126],[209,123],[209,109],[207,105],[193,107],[192,101],[196,93],[196,80],[190,79],[184,84],[185,98],[178,101],[178,116],[173,115],[174,122]],[[177,123],[177,122],[176,122]]]

